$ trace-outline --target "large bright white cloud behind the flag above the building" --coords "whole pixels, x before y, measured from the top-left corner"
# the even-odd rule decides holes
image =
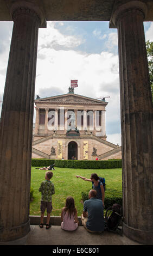
[[[98,97],[99,91],[109,93],[114,81],[119,80],[118,56],[112,53],[83,54],[44,48],[41,54],[44,58],[37,59],[36,93],[41,87],[52,86],[67,93],[70,80],[77,79],[79,87],[75,88],[76,93]]]

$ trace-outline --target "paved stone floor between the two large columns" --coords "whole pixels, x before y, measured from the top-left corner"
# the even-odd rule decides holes
[[[0,245],[140,245],[126,236],[104,231],[101,234],[89,233],[79,226],[75,231],[62,230],[59,225],[52,225],[46,230],[44,226],[30,225],[30,232],[21,239],[0,242]]]

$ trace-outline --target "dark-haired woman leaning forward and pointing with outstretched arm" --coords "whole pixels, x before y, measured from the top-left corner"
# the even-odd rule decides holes
[[[81,178],[82,180],[91,181],[93,185],[92,189],[97,191],[97,198],[102,200],[104,204],[104,198],[105,198],[104,187],[103,187],[103,183],[100,182],[97,173],[92,173],[90,179],[87,179],[80,175],[76,175],[76,178]]]

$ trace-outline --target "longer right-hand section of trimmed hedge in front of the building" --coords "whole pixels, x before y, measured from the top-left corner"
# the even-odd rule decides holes
[[[122,168],[122,160],[55,160],[55,166],[77,169],[114,169]]]

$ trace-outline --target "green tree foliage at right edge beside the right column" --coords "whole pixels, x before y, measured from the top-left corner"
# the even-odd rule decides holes
[[[148,57],[148,66],[149,66],[149,76],[150,76],[150,86],[152,93],[152,101],[153,101],[153,42],[146,41],[146,52]]]

